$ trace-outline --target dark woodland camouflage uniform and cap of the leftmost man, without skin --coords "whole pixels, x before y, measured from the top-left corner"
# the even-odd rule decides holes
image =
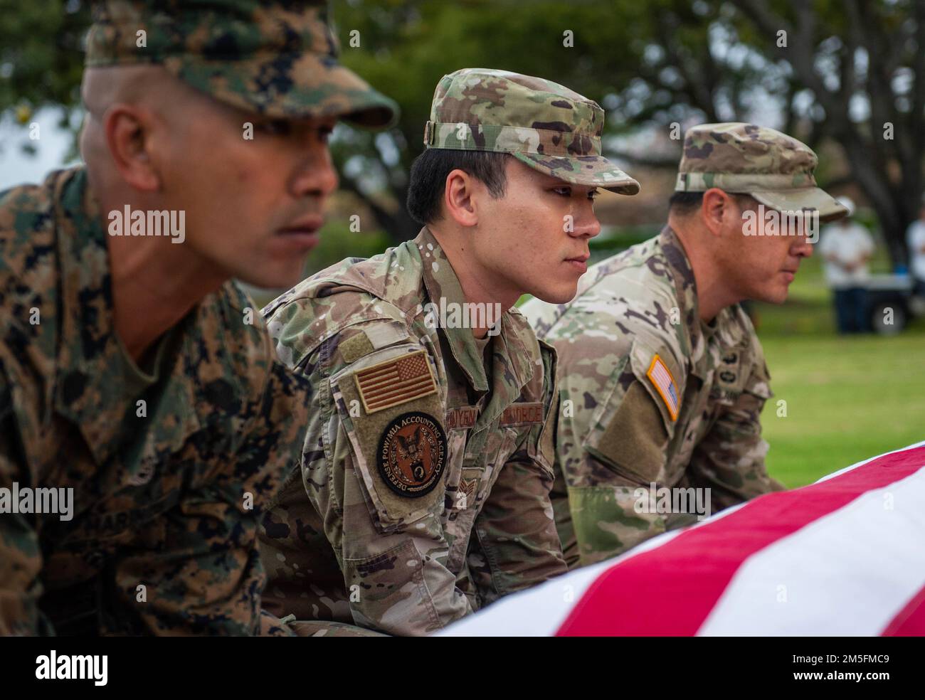
[[[390,103],[337,67],[325,19],[106,2],[87,63],[161,64],[248,113],[384,123]],[[257,632],[257,515],[298,459],[307,384],[230,282],[136,363],[105,218],[82,166],[0,193],[0,633]],[[73,489],[70,518],[15,512],[37,488]]]

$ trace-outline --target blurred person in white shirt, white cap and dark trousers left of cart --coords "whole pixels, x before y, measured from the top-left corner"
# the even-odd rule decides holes
[[[833,289],[835,319],[839,333],[863,333],[869,329],[867,318],[868,261],[874,251],[867,228],[852,219],[855,203],[840,197],[848,209],[845,218],[822,229],[819,252],[825,280]]]

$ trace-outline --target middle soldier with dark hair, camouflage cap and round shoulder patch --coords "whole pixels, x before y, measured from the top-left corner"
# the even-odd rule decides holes
[[[597,189],[638,190],[600,154],[603,118],[549,80],[445,76],[412,169],[417,238],[265,309],[314,387],[301,470],[261,539],[265,605],[302,633],[434,632],[566,571],[555,355],[512,307],[571,299]]]

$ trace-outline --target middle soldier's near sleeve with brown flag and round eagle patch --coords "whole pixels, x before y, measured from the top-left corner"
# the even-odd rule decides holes
[[[339,560],[352,620],[421,635],[472,608],[447,567],[445,416],[438,387],[427,393],[424,378],[436,377],[436,366],[402,330],[351,326],[309,356],[317,396],[302,478]]]

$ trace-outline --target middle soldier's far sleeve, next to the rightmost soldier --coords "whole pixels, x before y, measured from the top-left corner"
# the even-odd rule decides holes
[[[478,553],[470,571],[484,605],[568,571],[549,499],[559,415],[555,356],[544,352],[543,359],[543,423],[501,468],[475,520]]]

